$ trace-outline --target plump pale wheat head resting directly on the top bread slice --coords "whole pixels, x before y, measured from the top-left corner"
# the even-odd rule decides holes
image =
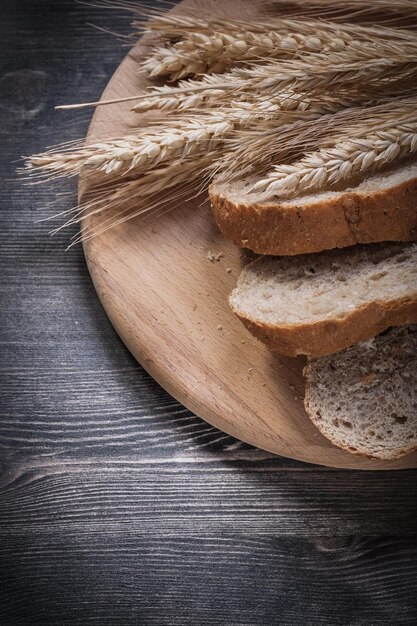
[[[417,113],[402,123],[367,132],[307,154],[294,164],[280,164],[257,181],[250,192],[291,197],[333,186],[417,152]]]

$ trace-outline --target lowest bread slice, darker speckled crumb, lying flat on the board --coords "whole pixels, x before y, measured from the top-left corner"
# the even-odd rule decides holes
[[[332,443],[397,459],[417,449],[417,326],[310,360],[305,407]]]

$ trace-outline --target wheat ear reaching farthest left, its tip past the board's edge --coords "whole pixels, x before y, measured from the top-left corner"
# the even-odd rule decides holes
[[[41,176],[57,178],[76,176],[85,169],[107,175],[138,174],[166,161],[173,162],[190,155],[215,153],[221,142],[238,128],[272,119],[278,126],[280,117],[293,111],[303,112],[308,101],[286,93],[254,106],[253,103],[230,103],[218,113],[171,118],[143,129],[137,135],[92,144],[58,146],[32,156],[26,168]]]

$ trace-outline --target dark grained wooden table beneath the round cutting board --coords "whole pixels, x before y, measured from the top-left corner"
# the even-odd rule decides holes
[[[180,406],[134,361],[75,231],[76,183],[21,155],[83,136],[125,50],[120,11],[1,0],[0,624],[417,624],[416,472],[276,458]]]

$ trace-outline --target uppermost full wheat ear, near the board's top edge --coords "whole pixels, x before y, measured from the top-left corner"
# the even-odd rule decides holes
[[[179,34],[170,45],[158,44],[142,64],[150,78],[170,81],[220,74],[242,64],[259,64],[271,59],[300,58],[315,53],[338,52],[348,60],[388,56],[398,52],[408,40],[409,54],[416,54],[417,38],[404,31],[399,38],[393,29],[371,29],[331,22],[273,19],[256,22],[207,22],[206,32]],[[394,43],[395,42],[395,43]],[[405,52],[404,47],[402,48]]]

